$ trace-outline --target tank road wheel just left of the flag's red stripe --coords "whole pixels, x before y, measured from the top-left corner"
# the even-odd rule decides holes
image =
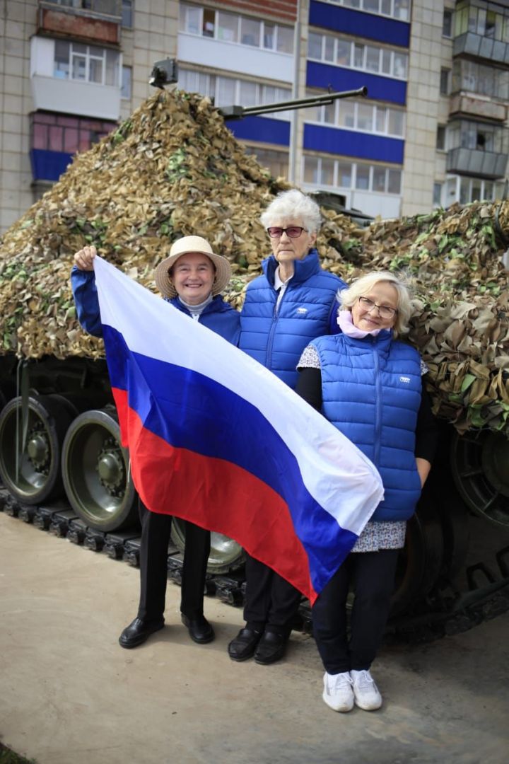
[[[62,477],[72,509],[91,528],[109,533],[137,522],[129,455],[114,410],[74,419],[63,443]]]

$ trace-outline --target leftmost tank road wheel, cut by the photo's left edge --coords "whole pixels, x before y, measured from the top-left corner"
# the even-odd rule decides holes
[[[63,495],[60,454],[72,416],[71,407],[59,396],[28,397],[25,416],[21,397],[4,406],[0,414],[0,477],[14,499],[38,504]]]

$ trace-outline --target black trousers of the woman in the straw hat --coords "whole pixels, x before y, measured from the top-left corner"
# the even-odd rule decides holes
[[[142,531],[138,618],[159,620],[163,617],[165,608],[172,517],[150,512],[141,500],[139,509]],[[203,614],[205,575],[210,552],[210,531],[186,521],[180,610],[188,618],[196,618]]]

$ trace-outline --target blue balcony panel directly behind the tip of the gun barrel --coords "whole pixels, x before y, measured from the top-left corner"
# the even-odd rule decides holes
[[[356,90],[366,86],[370,99],[401,105],[407,100],[407,83],[402,79],[391,79],[317,61],[308,61],[306,84],[310,88],[327,89],[330,86],[333,90]]]

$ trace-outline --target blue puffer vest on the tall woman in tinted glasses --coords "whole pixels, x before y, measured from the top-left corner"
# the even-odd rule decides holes
[[[322,270],[316,249],[295,261],[279,308],[274,288],[278,262],[273,254],[262,263],[263,276],[246,290],[240,313],[239,347],[290,387],[297,384],[296,367],[310,340],[337,331],[337,290],[346,284]]]

